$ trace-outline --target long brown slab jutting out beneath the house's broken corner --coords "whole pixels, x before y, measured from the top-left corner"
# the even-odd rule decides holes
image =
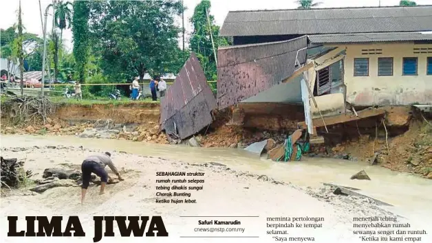
[[[324,121],[321,118],[315,118],[312,119],[312,124],[314,124],[314,126],[316,127],[322,127],[325,125],[330,126],[334,124],[353,122],[359,119],[364,119],[367,117],[375,117],[377,115],[384,115],[384,114],[385,114],[385,109],[382,108],[365,109],[363,111],[358,111],[357,112],[358,116],[352,114],[332,115],[330,117],[324,117]],[[298,126],[300,129],[307,129],[306,122],[299,122]]]

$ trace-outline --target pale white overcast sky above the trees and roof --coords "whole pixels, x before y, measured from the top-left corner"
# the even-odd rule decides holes
[[[73,1],[73,0],[69,0]],[[186,33],[191,32],[191,23],[189,19],[193,14],[193,9],[201,0],[184,0],[186,5],[185,12],[185,27]],[[337,8],[337,7],[361,7],[361,6],[381,6],[398,5],[400,0],[322,0],[320,8]],[[42,11],[45,10],[51,0],[41,0]],[[416,0],[419,5],[431,5],[432,0]],[[297,4],[294,0],[211,0],[210,14],[215,16],[217,25],[222,26],[228,11],[233,10],[274,10],[274,9],[289,9],[296,8]],[[17,13],[19,0],[1,0],[1,21],[0,28],[6,29],[18,22]],[[39,12],[39,0],[21,0],[21,8],[23,11],[23,25],[25,32],[31,32],[42,36],[41,13]],[[52,16],[48,16],[48,30],[51,29]],[[72,48],[72,32],[66,30],[63,32],[64,43],[67,48]]]

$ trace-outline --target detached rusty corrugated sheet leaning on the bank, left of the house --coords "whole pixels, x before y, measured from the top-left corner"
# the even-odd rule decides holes
[[[185,139],[213,122],[216,99],[195,54],[184,63],[160,104],[160,125],[166,134]]]

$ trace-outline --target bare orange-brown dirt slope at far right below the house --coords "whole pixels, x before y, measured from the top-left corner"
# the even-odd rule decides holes
[[[379,132],[378,132],[379,134]],[[388,143],[388,148],[387,148]],[[390,170],[413,172],[432,178],[432,126],[426,122],[412,121],[407,132],[385,141],[362,135],[358,139],[338,143],[334,147],[315,148],[316,154],[369,161],[378,152],[378,163]]]

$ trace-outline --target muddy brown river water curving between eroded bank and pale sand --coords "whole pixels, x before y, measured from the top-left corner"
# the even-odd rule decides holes
[[[241,149],[191,148],[154,143],[114,139],[82,139],[78,137],[52,137],[31,135],[3,135],[1,146],[83,146],[89,149],[116,150],[184,161],[187,163],[222,163],[233,170],[252,174],[265,174],[278,181],[291,182],[303,187],[321,187],[322,183],[334,183],[360,189],[360,193],[394,205],[395,213],[432,215],[432,180],[413,174],[393,172],[365,161],[303,157],[302,161],[273,162]],[[115,161],[114,161],[115,162]],[[365,170],[371,181],[350,180],[360,170]]]

